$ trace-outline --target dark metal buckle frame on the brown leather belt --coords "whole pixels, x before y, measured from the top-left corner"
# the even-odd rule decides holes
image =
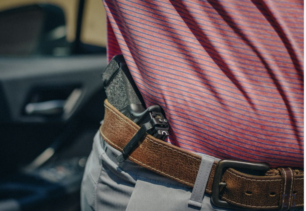
[[[266,163],[251,163],[245,161],[238,160],[220,160],[215,169],[215,176],[212,185],[212,193],[211,193],[211,201],[214,205],[218,207],[226,207],[226,208],[236,208],[239,209],[239,206],[232,205],[226,201],[220,199],[220,187],[226,187],[225,182],[221,182],[223,173],[227,168],[245,168],[257,171],[268,171],[270,169],[269,165]],[[243,209],[243,208],[240,208]]]

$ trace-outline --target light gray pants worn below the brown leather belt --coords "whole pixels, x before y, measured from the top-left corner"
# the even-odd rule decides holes
[[[129,159],[118,163],[121,153],[95,135],[81,187],[81,209],[101,211],[233,210],[216,207],[210,196],[202,208],[188,205],[192,188],[155,174]]]

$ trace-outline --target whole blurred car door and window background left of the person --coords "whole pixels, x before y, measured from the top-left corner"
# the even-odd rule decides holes
[[[0,211],[80,210],[106,63],[100,0],[0,1]]]

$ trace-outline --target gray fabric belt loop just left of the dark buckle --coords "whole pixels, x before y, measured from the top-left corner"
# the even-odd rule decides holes
[[[202,207],[203,196],[213,163],[214,158],[207,155],[202,155],[201,165],[196,176],[196,182],[192,189],[192,194],[188,205]]]

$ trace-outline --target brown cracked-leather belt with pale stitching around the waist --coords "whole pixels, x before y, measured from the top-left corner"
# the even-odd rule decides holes
[[[104,105],[105,116],[100,127],[100,134],[108,144],[122,152],[124,146],[140,127],[122,115],[107,100]],[[194,186],[201,163],[201,156],[151,135],[145,136],[140,145],[130,154],[129,159],[144,168],[190,187]],[[239,163],[239,161],[228,161],[227,164],[222,164],[223,167],[215,162],[212,167],[206,193],[214,192],[213,195],[217,196],[220,206],[279,210],[304,206],[304,171],[278,168],[267,171],[264,176],[256,176],[233,169],[237,167],[234,165],[235,162]],[[228,165],[231,163],[233,168]],[[250,163],[250,166],[252,164],[254,163]],[[219,177],[220,181],[217,181],[219,179],[216,177]],[[225,185],[220,188],[219,182]]]

